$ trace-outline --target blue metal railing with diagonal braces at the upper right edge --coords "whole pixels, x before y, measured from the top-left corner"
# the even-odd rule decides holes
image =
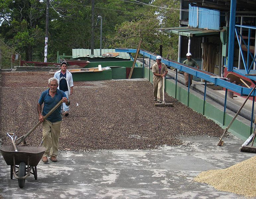
[[[238,32],[237,28],[247,28],[248,29],[248,42],[244,41],[244,38],[242,38],[242,35],[240,34],[240,32]],[[252,30],[256,30],[256,27],[253,26],[241,26],[241,25],[236,25],[235,26],[235,32],[236,32],[236,36],[237,36],[237,41],[238,41],[238,45],[241,51],[241,57],[242,57],[242,61],[244,64],[244,68],[245,68],[245,72],[246,74],[250,73],[250,70],[252,69],[253,63],[255,61],[256,55],[253,57],[253,54],[250,52],[250,38],[251,38],[251,31]],[[246,46],[247,49],[247,59],[245,60],[244,54],[242,53],[242,46],[241,43],[239,41],[239,38],[241,38],[242,42],[244,43],[244,45]],[[252,62],[250,62],[250,57],[252,58]]]

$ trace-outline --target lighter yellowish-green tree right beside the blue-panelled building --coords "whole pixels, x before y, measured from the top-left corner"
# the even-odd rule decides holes
[[[130,22],[123,22],[116,26],[116,34],[107,36],[109,47],[125,47],[136,49],[139,40],[142,39],[141,49],[145,49],[155,54],[159,54],[159,45],[163,45],[163,56],[169,54],[170,58],[177,58],[178,37],[176,35],[166,34],[157,30],[163,27],[178,26],[179,7],[177,0],[155,0],[150,7],[148,5],[137,19]],[[172,6],[174,9],[165,9]],[[159,8],[165,7],[165,8]]]

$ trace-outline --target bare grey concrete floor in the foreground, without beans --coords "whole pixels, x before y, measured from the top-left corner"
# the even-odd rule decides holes
[[[4,199],[246,199],[195,183],[201,171],[227,168],[255,156],[239,151],[235,137],[217,147],[217,138],[185,139],[190,146],[156,150],[61,152],[58,162],[38,164],[24,188],[10,179],[10,166],[0,157],[0,195]]]

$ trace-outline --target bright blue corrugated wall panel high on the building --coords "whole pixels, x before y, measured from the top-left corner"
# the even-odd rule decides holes
[[[205,8],[198,8],[199,11],[199,26],[198,28],[208,28],[211,30],[219,30],[220,12]],[[188,24],[191,27],[197,26],[197,7],[189,4]]]

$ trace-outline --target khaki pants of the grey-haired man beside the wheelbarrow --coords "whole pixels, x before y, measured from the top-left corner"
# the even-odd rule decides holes
[[[42,146],[46,148],[43,157],[57,157],[60,138],[60,125],[61,121],[52,123],[49,120],[44,120],[42,123]]]

